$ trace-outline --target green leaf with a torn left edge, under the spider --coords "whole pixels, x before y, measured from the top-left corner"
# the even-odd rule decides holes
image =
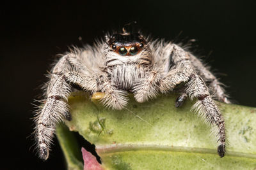
[[[145,103],[130,96],[121,111],[104,108],[86,94],[70,97],[69,104],[72,121],[66,125],[96,146],[106,169],[256,168],[256,108],[219,103],[228,139],[227,155],[220,158],[211,127],[190,111],[193,102],[175,108],[173,94]],[[81,169],[74,154],[81,148],[74,147],[70,135],[60,135],[63,129],[58,127],[57,136],[68,167]]]

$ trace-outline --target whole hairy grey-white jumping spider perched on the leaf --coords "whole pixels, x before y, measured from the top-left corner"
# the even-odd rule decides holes
[[[102,104],[122,110],[128,103],[128,92],[143,103],[180,84],[184,88],[175,106],[181,106],[188,97],[197,99],[193,108],[217,127],[217,151],[224,157],[225,122],[212,97],[224,103],[230,101],[218,79],[179,45],[153,41],[140,32],[125,29],[107,34],[105,41],[96,41],[93,46],[74,48],[56,62],[45,86],[44,106],[35,118],[39,157],[49,157],[56,124],[64,118],[71,120],[67,101],[72,87],[78,86],[91,94],[103,92]]]

